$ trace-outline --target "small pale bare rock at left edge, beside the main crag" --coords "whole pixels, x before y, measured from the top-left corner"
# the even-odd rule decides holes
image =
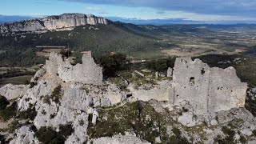
[[[26,85],[7,84],[6,86],[0,87],[0,95],[6,97],[8,100],[14,99],[22,97],[28,88]]]

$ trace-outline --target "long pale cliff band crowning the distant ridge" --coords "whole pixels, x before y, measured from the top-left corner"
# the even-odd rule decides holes
[[[110,20],[92,14],[61,14],[0,25],[0,33],[45,33],[48,30],[73,30],[75,26],[108,24]]]

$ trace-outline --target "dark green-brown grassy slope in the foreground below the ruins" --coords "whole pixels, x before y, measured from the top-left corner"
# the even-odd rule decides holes
[[[173,137],[166,134],[166,124],[173,121],[169,114],[159,114],[148,102],[126,103],[124,106],[112,106],[99,109],[96,125],[89,123],[87,132],[89,138],[111,137],[115,134],[125,134],[133,131],[139,138],[155,143],[155,138],[161,137],[162,143],[186,143],[179,131]],[[105,120],[107,118],[107,120]]]

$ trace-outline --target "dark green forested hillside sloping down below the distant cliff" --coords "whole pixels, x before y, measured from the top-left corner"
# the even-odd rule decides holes
[[[174,44],[159,42],[157,35],[148,33],[146,29],[118,23],[78,26],[71,31],[45,34],[13,34],[0,37],[0,66],[32,66],[44,62],[44,58],[36,57],[35,52],[42,50],[36,46],[69,46],[70,50],[92,50],[94,56],[99,56],[110,51],[140,54],[170,48]]]

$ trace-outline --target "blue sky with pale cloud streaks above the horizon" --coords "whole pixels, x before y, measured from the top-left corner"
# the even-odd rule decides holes
[[[43,17],[63,13],[129,19],[256,23],[256,0],[2,0],[0,14]]]

